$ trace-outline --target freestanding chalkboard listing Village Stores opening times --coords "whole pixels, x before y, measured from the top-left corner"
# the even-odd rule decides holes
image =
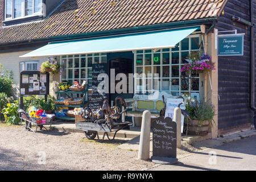
[[[158,117],[153,122],[153,156],[176,158],[176,122]]]

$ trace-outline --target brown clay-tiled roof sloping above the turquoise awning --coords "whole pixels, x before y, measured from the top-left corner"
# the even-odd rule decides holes
[[[14,26],[0,24],[0,43],[211,18],[220,15],[226,1],[66,0],[47,19]]]

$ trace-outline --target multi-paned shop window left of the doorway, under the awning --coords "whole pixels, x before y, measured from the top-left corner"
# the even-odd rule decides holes
[[[106,53],[94,53],[87,55],[61,56],[60,66],[65,68],[60,79],[68,80],[70,84],[78,81],[80,84],[85,80],[92,88],[92,64],[107,63]]]

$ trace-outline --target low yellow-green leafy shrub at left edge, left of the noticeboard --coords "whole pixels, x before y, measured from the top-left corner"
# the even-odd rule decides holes
[[[11,125],[17,125],[19,123],[20,120],[18,109],[18,101],[14,101],[14,103],[8,103],[7,106],[2,109],[6,123]]]

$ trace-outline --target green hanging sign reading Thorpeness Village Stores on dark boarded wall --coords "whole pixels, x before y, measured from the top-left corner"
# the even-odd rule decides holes
[[[243,35],[218,36],[218,56],[243,56]]]

